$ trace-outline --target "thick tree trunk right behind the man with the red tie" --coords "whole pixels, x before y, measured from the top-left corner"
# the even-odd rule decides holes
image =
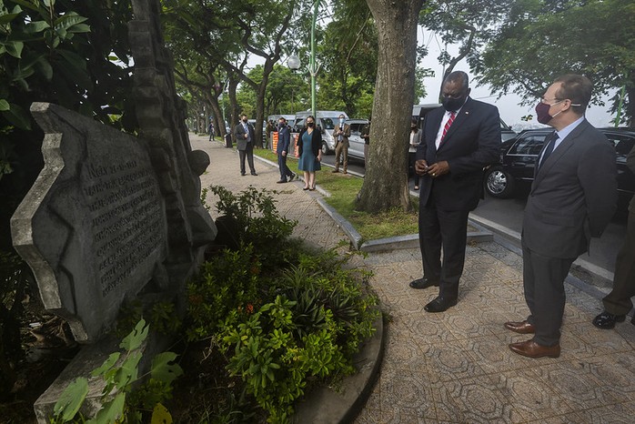
[[[424,0],[366,0],[378,29],[378,72],[366,177],[357,208],[408,210],[408,131],[417,60],[417,21]]]

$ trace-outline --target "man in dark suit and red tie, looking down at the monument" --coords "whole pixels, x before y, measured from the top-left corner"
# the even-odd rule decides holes
[[[427,312],[443,312],[459,300],[469,211],[483,196],[483,168],[498,162],[500,152],[499,109],[469,97],[468,74],[450,73],[441,90],[443,106],[426,116],[415,154],[423,278],[410,287],[439,288]]]

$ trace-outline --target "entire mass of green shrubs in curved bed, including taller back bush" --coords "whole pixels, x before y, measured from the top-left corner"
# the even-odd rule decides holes
[[[187,338],[209,338],[242,380],[237,392],[253,396],[269,422],[287,422],[308,387],[355,372],[352,358],[379,314],[370,273],[335,248],[290,239],[296,223],[280,217],[266,190],[210,190],[224,246],[234,249],[210,257],[188,284]]]

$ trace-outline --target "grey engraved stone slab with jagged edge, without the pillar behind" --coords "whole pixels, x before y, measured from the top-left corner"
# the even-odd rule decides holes
[[[94,341],[162,270],[164,200],[143,140],[60,106],[31,111],[45,131],[45,167],[12,218],[14,245],[45,308],[77,341]]]

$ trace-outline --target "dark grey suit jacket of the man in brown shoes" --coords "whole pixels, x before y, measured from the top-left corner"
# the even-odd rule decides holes
[[[617,197],[615,149],[584,120],[536,167],[523,243],[540,255],[578,257],[609,224]]]

